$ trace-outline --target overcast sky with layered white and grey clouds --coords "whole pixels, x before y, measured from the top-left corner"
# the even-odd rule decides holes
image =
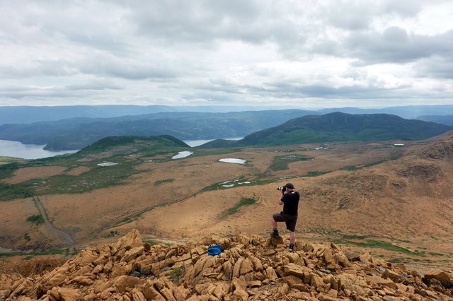
[[[0,105],[453,104],[451,0],[0,0]]]

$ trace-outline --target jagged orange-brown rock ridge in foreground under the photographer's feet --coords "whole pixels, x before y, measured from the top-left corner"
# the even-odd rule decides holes
[[[0,300],[453,300],[453,271],[423,278],[336,244],[258,235],[168,247],[137,230],[35,278],[0,275]],[[222,254],[209,256],[209,244]]]

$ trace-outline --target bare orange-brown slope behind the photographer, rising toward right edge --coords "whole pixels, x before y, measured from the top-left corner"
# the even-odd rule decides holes
[[[401,239],[449,235],[453,230],[450,223],[453,162],[426,155],[436,153],[438,145],[445,143],[452,143],[452,139],[428,148],[413,148],[398,160],[360,170],[291,179],[302,194],[298,228],[302,232],[340,230]],[[287,181],[282,179],[281,184]],[[265,232],[270,214],[280,210],[275,186],[265,184],[197,194],[144,213],[137,223],[125,228],[137,226],[144,232],[175,238],[202,232]],[[257,203],[219,219],[241,197],[253,197]]]

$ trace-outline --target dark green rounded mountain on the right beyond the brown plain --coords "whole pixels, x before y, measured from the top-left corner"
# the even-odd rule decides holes
[[[390,114],[346,114],[334,112],[308,115],[250,134],[239,141],[205,143],[202,147],[280,146],[299,143],[341,141],[420,140],[437,136],[451,126],[408,120]]]

